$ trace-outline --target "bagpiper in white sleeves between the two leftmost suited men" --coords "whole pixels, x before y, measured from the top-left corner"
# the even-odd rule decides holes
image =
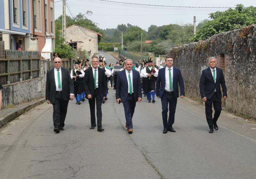
[[[84,77],[84,72],[78,66],[79,66],[79,63],[75,62],[75,69],[71,70],[70,77],[71,79],[73,79],[73,83],[74,83],[74,94],[76,98],[76,104],[81,104],[80,101],[82,99],[82,83],[83,83],[82,78]]]

